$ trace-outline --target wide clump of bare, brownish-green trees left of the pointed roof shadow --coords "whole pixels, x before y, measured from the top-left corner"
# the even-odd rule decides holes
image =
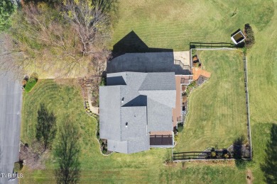
[[[59,76],[76,76],[77,71],[87,70],[92,58],[105,63],[110,55],[105,49],[110,40],[109,16],[102,12],[107,5],[97,1],[66,0],[56,9],[25,4],[13,18],[11,30],[28,64]]]

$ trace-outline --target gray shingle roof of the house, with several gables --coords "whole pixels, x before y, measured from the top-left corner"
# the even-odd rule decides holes
[[[107,85],[99,89],[100,138],[110,151],[148,150],[149,132],[173,130],[173,72],[107,74]]]

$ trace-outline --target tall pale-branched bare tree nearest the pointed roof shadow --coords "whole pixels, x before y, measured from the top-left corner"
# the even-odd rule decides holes
[[[102,74],[111,52],[105,49],[110,40],[109,16],[106,9],[112,1],[67,0],[63,4],[64,16],[75,28],[82,44],[80,52],[89,56],[90,74]]]

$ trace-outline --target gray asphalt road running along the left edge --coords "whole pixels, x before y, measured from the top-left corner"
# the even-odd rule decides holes
[[[6,45],[0,37],[0,62],[13,62],[11,57],[2,56],[4,52]],[[11,71],[0,70],[0,183],[18,183],[17,178],[8,181],[18,161],[21,125],[21,81],[14,76]]]

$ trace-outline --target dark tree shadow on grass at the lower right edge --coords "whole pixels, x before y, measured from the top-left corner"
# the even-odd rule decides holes
[[[266,144],[266,156],[261,163],[266,183],[277,183],[277,125],[271,127],[271,139]]]

